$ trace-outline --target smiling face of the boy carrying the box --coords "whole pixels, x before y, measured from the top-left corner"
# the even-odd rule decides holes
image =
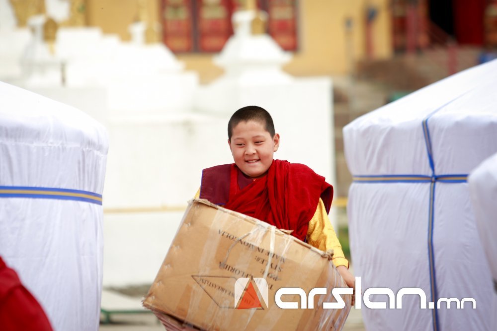
[[[271,137],[260,121],[240,122],[233,128],[228,144],[237,167],[248,177],[259,178],[273,162],[273,153],[279,146],[279,134]]]

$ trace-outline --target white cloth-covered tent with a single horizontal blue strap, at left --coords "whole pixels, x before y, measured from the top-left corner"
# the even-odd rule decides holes
[[[54,330],[98,330],[107,148],[87,115],[0,83],[0,255]]]

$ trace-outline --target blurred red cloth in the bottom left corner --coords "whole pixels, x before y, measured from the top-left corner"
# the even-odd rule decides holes
[[[0,258],[0,330],[52,331],[43,308]]]

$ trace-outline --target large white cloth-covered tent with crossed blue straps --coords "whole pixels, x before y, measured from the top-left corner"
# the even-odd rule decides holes
[[[474,298],[464,309],[367,309],[368,330],[491,330],[492,278],[466,176],[497,151],[497,61],[463,71],[368,113],[343,129],[354,176],[352,262],[370,287],[419,287],[426,301]],[[440,177],[441,176],[441,177]],[[444,177],[446,176],[446,177]],[[388,302],[386,295],[371,301]]]

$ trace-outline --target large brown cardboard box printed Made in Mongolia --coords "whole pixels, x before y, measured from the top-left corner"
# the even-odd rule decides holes
[[[205,330],[341,330],[352,295],[341,295],[343,309],[323,308],[336,302],[332,288],[346,287],[330,259],[274,226],[195,199],[143,305],[163,323],[173,322],[170,315]],[[275,303],[282,287],[302,288],[305,305],[312,288],[328,291],[314,297],[313,309],[285,294],[281,300],[299,308],[282,309]]]

